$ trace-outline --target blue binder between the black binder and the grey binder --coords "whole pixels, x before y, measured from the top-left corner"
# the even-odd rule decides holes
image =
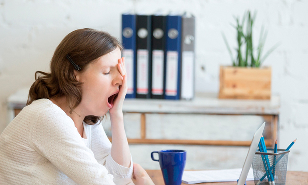
[[[182,18],[167,15],[165,99],[180,99]]]

